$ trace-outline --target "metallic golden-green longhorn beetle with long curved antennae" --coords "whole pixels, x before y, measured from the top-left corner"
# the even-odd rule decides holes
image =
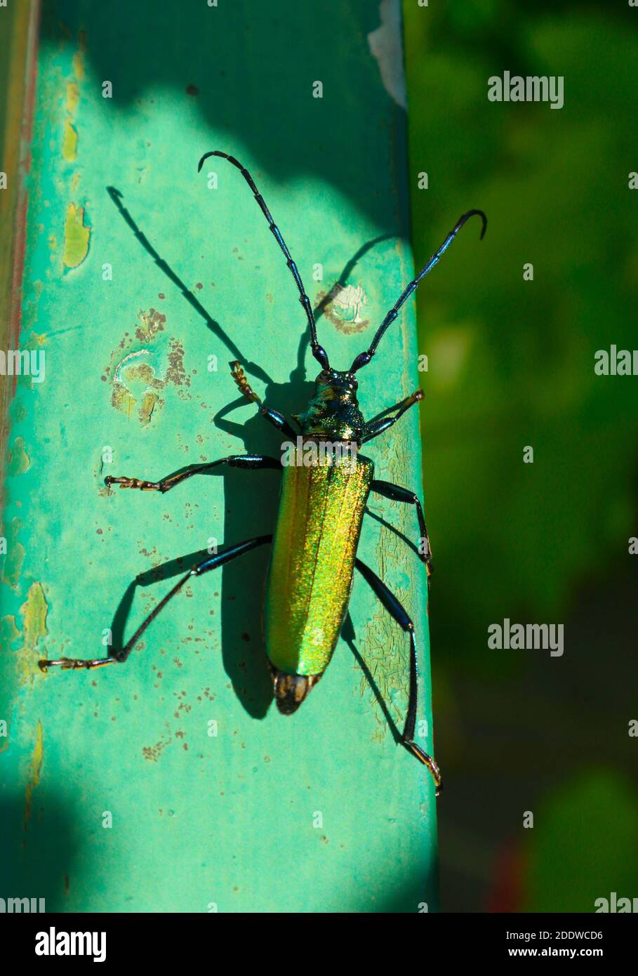
[[[194,576],[202,576],[223,566],[251,549],[272,543],[268,581],[264,603],[264,638],[272,673],[273,695],[283,714],[299,709],[310,690],[320,680],[330,664],[339,639],[339,632],[347,611],[355,569],[364,577],[380,602],[410,639],[410,690],[408,711],[400,736],[401,744],[429,769],[436,793],[441,789],[441,773],[432,756],[414,741],[418,711],[419,667],[415,626],[405,609],[388,590],[379,576],[357,557],[363,516],[371,493],[394,502],[414,506],[419,523],[421,546],[419,558],[425,565],[429,590],[432,572],[431,549],[427,529],[417,494],[400,485],[375,478],[370,458],[359,453],[359,447],[392,427],[403,414],[422,399],[420,389],[366,421],[359,409],[356,373],[367,366],[389,325],[398,316],[402,305],[417,289],[419,282],[438,264],[470,217],[478,216],[483,224],[481,239],[487,228],[482,210],[469,210],[459,218],[442,245],[419,271],[419,274],[399,296],[379,325],[372,343],[360,352],[347,370],[330,365],[328,353],[319,345],[312,305],[305,293],[297,264],[277,224],[274,223],[263,197],[251,174],[235,159],[216,149],[205,153],[199,161],[198,172],[206,159],[219,156],[235,166],[250,186],[268,226],[283,251],[288,267],[299,290],[299,302],[307,317],[310,348],[321,371],[315,380],[314,394],[306,409],[294,415],[298,434],[286,418],[266,407],[249,385],[241,364],[230,364],[231,374],[240,392],[255,403],[260,415],[279,431],[298,443],[289,455],[289,463],[261,454],[230,455],[218,461],[191,465],[160,481],[135,477],[108,475],[104,483],[119,485],[121,489],[165,493],[195,474],[203,474],[219,465],[255,470],[277,468],[282,471],[282,484],[277,522],[273,535],[259,536],[246,542],[220,549],[188,571],[179,583],[148,614],[131,639],[106,658],[84,660],[60,658],[40,661],[40,668],[60,667],[63,670],[94,669],[123,663],[134,649],[141,634],[166,604]],[[310,463],[306,461],[309,453]],[[291,461],[292,457],[292,461]]]

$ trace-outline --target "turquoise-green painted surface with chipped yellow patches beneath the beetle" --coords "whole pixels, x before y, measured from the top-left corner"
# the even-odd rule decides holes
[[[221,160],[198,176],[199,156],[223,148],[251,169],[313,303],[339,280],[361,285],[358,314],[333,302],[318,320],[337,366],[411,277],[396,7],[380,10],[374,56],[380,13],[363,0],[188,2],[179,22],[149,2],[43,5],[20,348],[45,352],[46,375],[20,377],[11,408],[0,808],[3,892],[45,897],[49,911],[436,907],[433,785],[396,746],[347,643],[299,712],[273,707],[266,551],[195,580],[127,665],[37,668],[43,655],[100,656],[109,630],[130,635],[171,585],[149,578],[159,563],[187,566],[213,539],[274,524],[269,471],[165,496],[103,488],[107,473],[278,452],[229,360],[288,415],[317,372],[255,200]],[[367,416],[418,386],[417,355],[410,307],[360,374]],[[368,447],[378,476],[420,494],[416,411]],[[369,508],[360,554],[418,624],[431,752],[425,574],[398,534],[417,542],[415,512]],[[402,723],[407,639],[361,579],[350,619]]]

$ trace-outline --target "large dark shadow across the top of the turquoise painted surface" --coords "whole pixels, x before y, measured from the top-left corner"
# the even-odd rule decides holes
[[[115,107],[144,102],[152,111],[149,91],[170,91],[184,105],[196,103],[202,153],[247,145],[270,179],[285,184],[320,176],[396,233],[406,230],[398,213],[374,179],[362,179],[373,176],[370,142],[379,132],[361,93],[386,102],[393,136],[405,126],[405,112],[385,91],[370,53],[367,35],[379,25],[379,4],[363,2],[324,5],[308,18],[296,0],[235,0],[217,8],[206,0],[44,0],[40,30],[43,41],[81,43],[88,71],[100,84],[112,83]],[[323,98],[313,98],[315,81]],[[206,144],[209,128],[223,133],[219,145]],[[380,139],[394,151],[385,131]],[[347,151],[339,151],[341,140]]]

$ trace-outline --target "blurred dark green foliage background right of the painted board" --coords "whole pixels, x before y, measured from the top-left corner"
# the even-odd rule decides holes
[[[417,265],[468,208],[490,222],[418,297],[448,911],[638,894],[638,379],[593,371],[597,349],[638,346],[637,17],[404,2]],[[564,76],[564,107],[488,101],[504,70]],[[504,618],[563,623],[563,657],[489,650]]]

